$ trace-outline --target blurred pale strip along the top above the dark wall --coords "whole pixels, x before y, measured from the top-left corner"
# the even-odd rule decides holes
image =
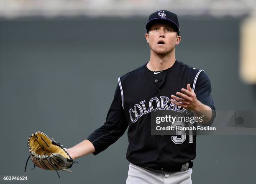
[[[148,15],[154,10],[175,10],[179,15],[248,15],[255,0],[1,0],[0,15],[122,16]]]

